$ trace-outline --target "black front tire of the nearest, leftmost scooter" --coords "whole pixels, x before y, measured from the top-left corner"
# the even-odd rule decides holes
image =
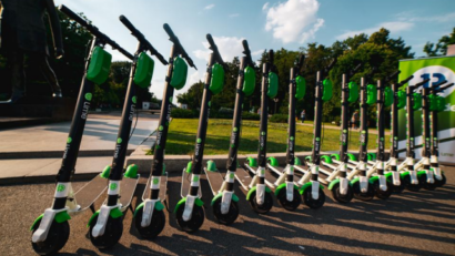
[[[32,229],[33,233],[39,228],[41,221]],[[70,224],[68,222],[58,223],[55,219],[51,224],[48,237],[43,242],[33,243],[31,246],[33,250],[39,255],[53,255],[57,254],[67,244],[70,237]]]

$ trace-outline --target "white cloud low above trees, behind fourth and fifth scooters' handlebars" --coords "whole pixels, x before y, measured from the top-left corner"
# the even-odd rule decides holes
[[[241,57],[243,55],[243,45],[242,41],[243,38],[236,38],[236,37],[213,37],[213,40],[216,43],[218,49],[220,50],[221,58],[223,58],[223,61],[232,61],[234,57]],[[209,50],[209,43],[208,42],[202,42],[204,48],[206,50],[195,50],[193,51],[194,55],[198,59],[202,59],[205,61],[209,61],[210,53],[212,52]],[[263,50],[261,51],[254,51],[252,54],[259,52],[262,53]]]

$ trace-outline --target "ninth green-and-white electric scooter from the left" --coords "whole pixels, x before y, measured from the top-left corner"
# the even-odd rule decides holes
[[[333,198],[338,203],[348,203],[354,196],[354,192],[350,181],[347,180],[348,165],[348,125],[350,125],[350,103],[356,102],[358,99],[358,85],[351,82],[351,78],[362,66],[358,64],[352,71],[344,73],[342,76],[342,127],[340,134],[340,154],[323,155],[320,172],[327,175],[322,183],[328,185],[327,188],[332,192]],[[332,160],[334,157],[334,160]],[[335,164],[335,165],[334,165]]]

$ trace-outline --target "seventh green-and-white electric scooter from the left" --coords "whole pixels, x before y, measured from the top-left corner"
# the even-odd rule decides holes
[[[305,96],[305,79],[300,75],[305,55],[301,54],[294,66],[290,71],[290,105],[289,105],[289,129],[287,129],[287,150],[286,166],[279,167],[274,157],[269,157],[267,170],[265,171],[265,183],[275,191],[279,204],[287,209],[294,211],[302,203],[299,187],[294,185],[294,164],[295,164],[295,103]],[[275,175],[272,175],[275,174]]]

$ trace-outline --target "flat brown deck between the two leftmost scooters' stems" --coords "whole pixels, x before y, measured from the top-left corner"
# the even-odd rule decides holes
[[[78,192],[74,193],[74,198],[80,208],[77,212],[82,212],[89,208],[103,192],[108,188],[109,178],[97,175],[92,181],[87,183]]]

